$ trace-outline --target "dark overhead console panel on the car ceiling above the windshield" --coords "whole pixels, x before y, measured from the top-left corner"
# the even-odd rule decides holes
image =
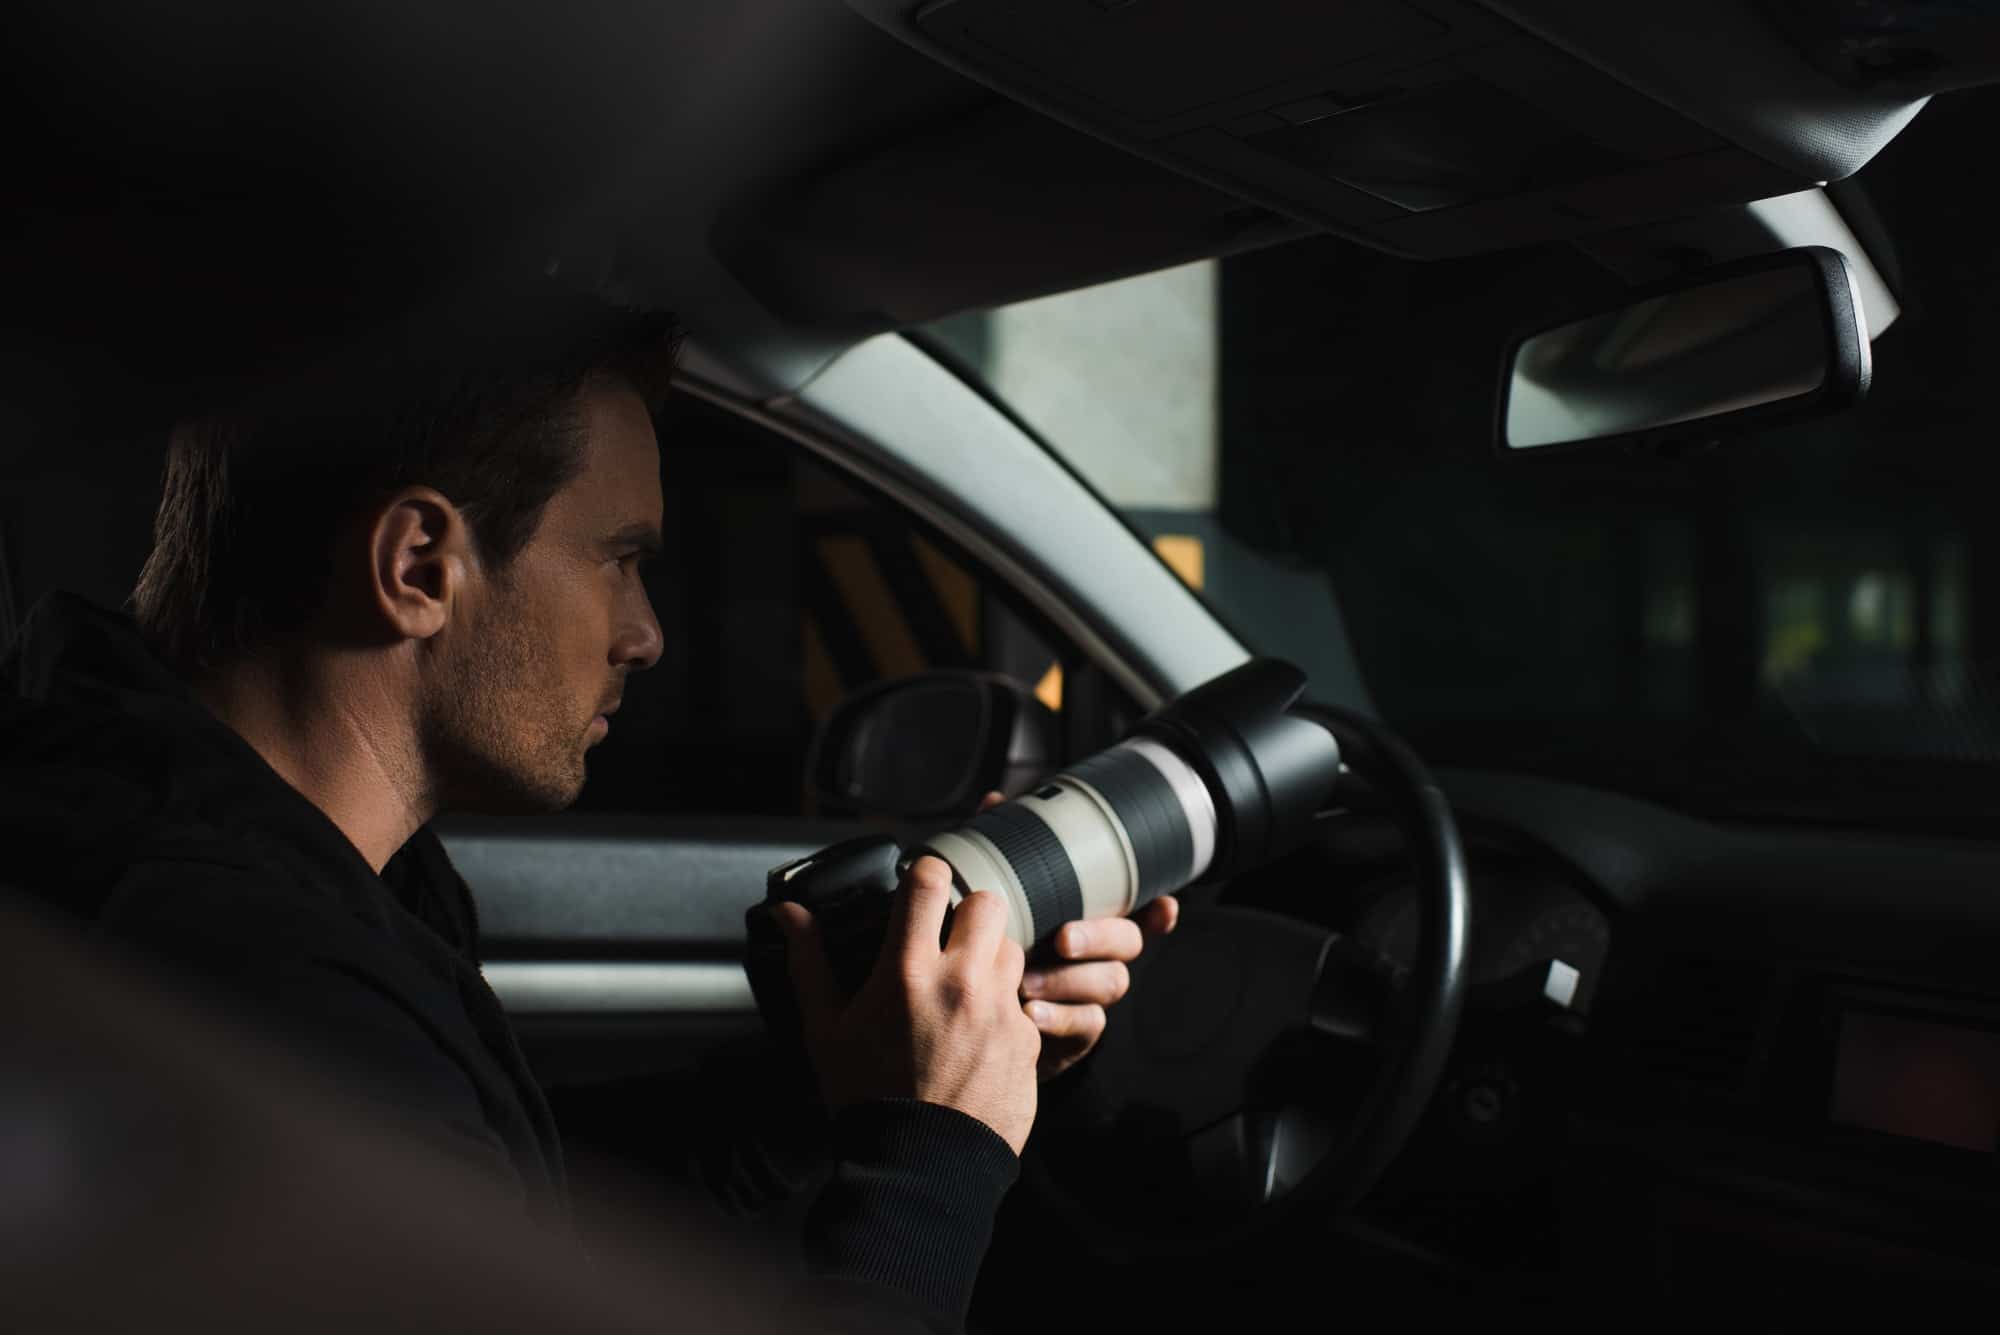
[[[1442,258],[1570,238],[1708,206],[1806,190],[1824,180],[1812,154],[1770,150],[1764,134],[1724,134],[1744,108],[1694,116],[1626,76],[1658,52],[1632,50],[1646,18],[1616,10],[1624,34],[1550,40],[1460,0],[850,0],[884,28],[1006,96],[1074,128],[1306,224],[1406,256]],[[1694,4],[1692,10],[1708,8]],[[1742,8],[1742,6],[1738,6]],[[1686,20],[1690,6],[1676,6]],[[1584,22],[1584,20],[1578,20]],[[1756,20],[1750,20],[1756,24]],[[1682,58],[1702,58],[1690,30]],[[1712,40],[1732,40],[1712,32]],[[1766,50],[1732,50],[1712,94],[1772,100],[1778,134],[1806,142],[1808,124],[1842,90],[1770,26]],[[1570,50],[1564,50],[1568,46]],[[1592,58],[1584,58],[1592,54]],[[1788,62],[1760,78],[1756,62]],[[1604,72],[1618,68],[1620,76]],[[1644,70],[1640,70],[1644,74]],[[1916,94],[1848,94],[1838,134],[1856,116],[1900,128]],[[1836,138],[1838,138],[1836,134]],[[1822,136],[1824,138],[1824,136]],[[1746,146],[1746,140],[1754,144]],[[1878,144],[1876,144],[1878,146]],[[1862,156],[1864,160],[1864,156]],[[1858,166],[1860,162],[1854,162]],[[1852,170],[1852,168],[1848,168]]]

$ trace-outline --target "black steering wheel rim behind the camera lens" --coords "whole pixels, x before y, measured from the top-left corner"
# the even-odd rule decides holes
[[[1388,813],[1402,829],[1416,861],[1420,927],[1414,965],[1390,987],[1388,1005],[1374,1013],[1372,1033],[1362,1031],[1370,1019],[1366,1005],[1360,1013],[1350,1015],[1356,1029],[1348,1037],[1360,1037],[1364,1043],[1374,1039],[1382,1061],[1348,1125],[1318,1149],[1310,1167],[1292,1179],[1288,1189],[1276,1195],[1272,1195],[1272,1183],[1282,1153],[1284,1117],[1298,1113],[1304,1105],[1268,1109],[1264,1119],[1270,1123],[1272,1139],[1260,1145],[1260,1153],[1266,1155],[1262,1165],[1264,1199],[1234,1213],[1222,1227],[1198,1235],[1150,1235],[1132,1229],[1114,1219],[1110,1211],[1094,1205],[1088,1193],[1078,1193],[1062,1181],[1050,1169],[1048,1155],[1040,1153],[1040,1147],[1030,1147],[1022,1163],[1024,1183],[1054,1205],[1102,1259],[1130,1263],[1204,1257],[1256,1237],[1268,1237],[1308,1209],[1320,1215],[1354,1209],[1408,1143],[1450,1057],[1464,1009],[1466,947],[1472,921],[1464,845],[1450,803],[1416,751],[1382,723],[1334,705],[1302,703],[1296,711],[1334,733],[1340,741],[1344,783],[1354,777],[1370,783],[1374,795],[1386,803]],[[1276,919],[1278,915],[1208,907],[1192,909],[1188,919],[1200,921],[1200,913],[1234,913],[1232,931],[1248,929],[1250,937],[1264,931],[1282,935],[1274,921],[1252,921],[1256,917]],[[1296,923],[1296,919],[1282,921]],[[1172,951],[1180,935],[1176,931],[1172,937],[1148,945],[1148,955]],[[1312,1005],[1328,995],[1328,965],[1338,971],[1332,975],[1334,979],[1368,981],[1354,955],[1340,949],[1338,933],[1322,935],[1324,941],[1314,963]],[[1298,947],[1304,949],[1304,941]],[[1142,957],[1140,963],[1148,961]],[[1386,985],[1380,975],[1376,981]],[[1144,983],[1144,979],[1136,979],[1136,983]],[[1332,991],[1342,989],[1334,987]],[[1366,995],[1366,985],[1360,993]],[[1118,1019],[1126,1017],[1112,1019],[1106,1045],[1132,1041],[1130,1035],[1118,1035]],[[1300,1015],[1300,1019],[1328,1029],[1314,1015]],[[1332,1029],[1338,1029],[1340,1023],[1348,1021],[1338,1021]],[[1100,1063],[1102,1053],[1104,1045],[1086,1065]],[[1090,1079],[1090,1073],[1080,1077]],[[1106,1105],[1120,1103],[1118,1089],[1096,1089],[1092,1097]],[[1244,1107],[1238,1115],[1248,1117],[1250,1109]],[[1202,1133],[1208,1135],[1212,1129]],[[1192,1143],[1192,1133],[1184,1133],[1182,1139]]]

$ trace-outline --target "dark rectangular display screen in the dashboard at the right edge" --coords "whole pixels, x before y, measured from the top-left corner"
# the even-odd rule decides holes
[[[1832,1119],[1958,1149],[2000,1147],[2000,1033],[1846,1011]]]

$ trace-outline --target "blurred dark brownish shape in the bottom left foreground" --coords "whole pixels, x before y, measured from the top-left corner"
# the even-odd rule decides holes
[[[668,1215],[644,1267],[588,1257],[0,893],[8,1331],[788,1329]]]

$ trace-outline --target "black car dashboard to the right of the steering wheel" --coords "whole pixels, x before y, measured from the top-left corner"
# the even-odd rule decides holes
[[[1470,989],[1372,1229],[1536,1301],[2000,1295],[1994,849],[1454,777]],[[1406,967],[1416,887],[1366,843],[1336,925]]]

